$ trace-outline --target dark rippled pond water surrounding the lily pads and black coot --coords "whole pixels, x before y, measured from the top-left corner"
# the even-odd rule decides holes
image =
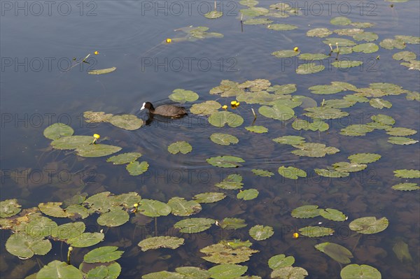
[[[235,262],[247,266],[246,273],[225,278],[237,278],[241,274],[269,278],[273,270],[268,260],[282,254],[293,256],[295,271],[304,273],[302,269],[306,270],[307,278],[340,278],[340,271],[348,264],[372,266],[382,278],[419,278],[420,2],[282,1],[290,7],[270,8],[277,3],[280,2],[217,1],[217,9],[223,16],[208,19],[204,14],[214,9],[213,1],[54,1],[50,4],[1,1],[1,201],[17,199],[22,206],[19,214],[27,216],[25,209],[39,203],[64,201],[62,207],[65,208],[72,204],[69,199],[73,196],[89,197],[106,191],[115,195],[137,192],[142,199],[163,203],[176,196],[190,201],[205,192],[225,194],[221,201],[201,203],[201,210],[197,210],[200,212],[190,217],[160,214],[162,216],[155,219],[137,210],[130,213],[128,222],[118,227],[99,225],[97,213],[104,212],[96,208],[97,213],[94,213],[91,204],[85,205],[92,211],[84,219],[43,214],[59,225],[81,221],[85,223],[86,232],[103,230],[101,243],[74,248],[71,264],[79,268],[83,256],[94,248],[118,246],[118,250],[124,251],[116,260],[121,267],[118,278],[141,278],[158,271],[175,272],[180,266],[211,269],[226,262],[223,259],[207,261],[200,250],[234,239],[251,241],[251,249],[259,252],[248,261]],[[255,4],[258,8],[244,4],[250,7]],[[243,11],[245,15],[241,20],[239,10],[248,8],[251,11]],[[246,24],[250,23],[247,20],[252,20],[249,14],[255,10],[262,15],[254,19],[266,18],[272,22]],[[349,22],[337,17],[347,17]],[[372,26],[360,27],[355,22],[370,22]],[[276,27],[276,23],[292,24],[296,28],[285,31],[267,28]],[[182,30],[175,31],[190,26],[209,27],[207,32],[223,34],[223,38],[218,34],[193,38]],[[325,38],[307,36],[309,30],[316,28],[327,28],[335,33]],[[356,28],[360,30],[351,31],[354,32],[351,36],[341,33],[349,30],[337,30]],[[374,34],[365,36],[367,32]],[[364,41],[356,33],[363,34],[359,36],[365,38]],[[172,41],[166,43],[167,38]],[[326,38],[333,38],[331,46],[323,43]],[[349,48],[341,41],[338,47],[334,43],[341,38],[353,41],[354,45],[374,43],[378,48],[365,50],[362,46],[367,53],[347,54]],[[389,44],[398,48],[390,49]],[[292,55],[316,53],[326,57],[313,61],[315,66],[305,66],[310,61],[299,56],[272,55],[279,50],[288,50]],[[400,53],[402,51],[407,53]],[[399,56],[402,59],[399,60]],[[363,64],[343,69],[332,66],[333,62]],[[325,69],[318,73],[296,73],[299,66],[311,71],[319,65]],[[111,67],[116,67],[116,71],[88,74],[94,69]],[[228,87],[218,87],[222,80],[232,83],[225,81],[223,84],[229,84]],[[248,85],[244,84],[247,80],[251,80]],[[346,88],[334,94],[325,94],[330,87],[322,88],[320,94],[315,94],[314,88],[309,90],[309,87],[332,82],[346,83]],[[275,85],[289,85],[295,90],[276,91],[280,89]],[[212,90],[214,87],[218,88]],[[226,93],[230,88],[237,92]],[[169,95],[176,89],[198,94],[195,101],[183,103],[188,110],[204,101],[218,101],[221,106],[228,106],[227,112],[235,114],[221,117],[218,123],[229,120],[237,127],[228,124],[216,127],[218,124],[209,122],[209,115],[188,113],[180,119],[153,117],[147,125],[130,131],[109,122],[86,122],[83,115],[91,110],[113,115],[131,114],[146,121],[148,113],[140,110],[142,104],[146,101],[155,106],[174,103]],[[257,94],[259,97],[255,96]],[[340,103],[328,103],[332,99],[339,99]],[[354,101],[349,102],[350,99]],[[240,102],[239,106],[231,106],[231,101],[235,100]],[[305,115],[311,107],[336,110],[316,117]],[[220,106],[216,109],[224,111]],[[273,110],[276,116],[272,115]],[[333,116],[337,110],[344,115]],[[324,118],[322,121],[328,124],[328,129],[321,129],[321,122],[309,129],[308,122],[318,121],[319,117]],[[239,120],[243,123],[238,123]],[[51,139],[45,138],[43,131],[57,122],[72,127],[75,135],[99,134],[100,143],[122,148],[117,154],[141,152],[137,161],[147,162],[147,171],[132,176],[125,164],[106,162],[111,156],[81,157],[73,150],[52,148]],[[252,126],[265,127],[267,132],[258,134],[245,129]],[[392,127],[407,129],[399,131]],[[364,132],[358,134],[361,129]],[[238,143],[214,143],[210,139],[214,133],[235,136]],[[326,155],[307,156],[299,153],[304,145],[273,141],[282,136],[301,136],[305,143],[321,143],[332,149]],[[398,138],[390,138],[393,136]],[[188,142],[192,151],[172,155],[167,148],[176,141]],[[358,153],[381,157],[365,163],[348,159]],[[239,162],[236,168],[221,168],[207,162],[211,157],[226,155],[240,157],[244,162]],[[353,166],[340,169],[334,165],[338,162],[351,162]],[[281,166],[297,169],[279,170]],[[353,169],[349,169],[351,167]],[[269,171],[272,176],[257,176],[255,169]],[[302,174],[300,170],[305,176],[290,178]],[[414,171],[409,174],[402,171],[400,175],[397,170]],[[243,185],[235,189],[216,186],[225,179],[235,180],[238,178],[235,175],[241,177]],[[412,183],[411,190],[392,188],[400,183]],[[258,190],[258,196],[240,199],[237,194],[246,189]],[[319,214],[302,218],[292,213],[295,208],[307,205],[334,208],[341,211],[346,220],[331,220]],[[132,204],[126,204],[124,209],[134,211]],[[318,209],[315,211],[318,213]],[[3,215],[3,211],[1,214],[9,219],[16,217]],[[195,217],[218,220],[218,225],[193,234],[174,228],[176,222]],[[349,224],[361,217],[378,220],[385,217],[382,221],[387,220],[388,226],[378,232],[373,229],[374,234],[358,233]],[[223,229],[224,218],[240,218],[247,226]],[[13,222],[13,226],[26,224],[25,220]],[[373,226],[381,227],[381,224]],[[272,227],[274,234],[256,240],[249,233],[255,225]],[[43,237],[50,238],[52,248],[46,255],[38,253],[41,255],[19,259],[6,249],[6,241],[13,234],[3,218],[1,226],[2,278],[30,275],[29,278],[36,278],[33,274],[45,264],[67,261],[69,244],[65,240],[54,240],[48,234]],[[308,226],[330,228],[334,232],[325,236],[304,236],[300,229]],[[293,238],[293,233],[300,236]],[[174,250],[160,248],[144,252],[137,244],[150,236],[176,236],[184,238],[185,242]],[[342,245],[351,252],[351,257],[346,258],[339,249],[321,252],[314,247],[325,242]],[[349,261],[341,258],[340,263],[337,257]],[[160,276],[162,273],[156,278]],[[167,278],[186,278],[174,276],[181,275],[171,273]],[[220,274],[213,276],[222,278],[218,277]]]

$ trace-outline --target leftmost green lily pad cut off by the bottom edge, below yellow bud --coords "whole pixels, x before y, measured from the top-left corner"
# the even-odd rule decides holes
[[[65,262],[52,261],[38,271],[36,278],[83,279],[83,273]]]

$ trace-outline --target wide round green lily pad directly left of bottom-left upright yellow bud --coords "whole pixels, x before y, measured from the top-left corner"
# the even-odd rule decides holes
[[[48,239],[32,236],[24,232],[10,235],[6,241],[6,250],[17,257],[30,258],[34,255],[46,255],[52,248]]]

